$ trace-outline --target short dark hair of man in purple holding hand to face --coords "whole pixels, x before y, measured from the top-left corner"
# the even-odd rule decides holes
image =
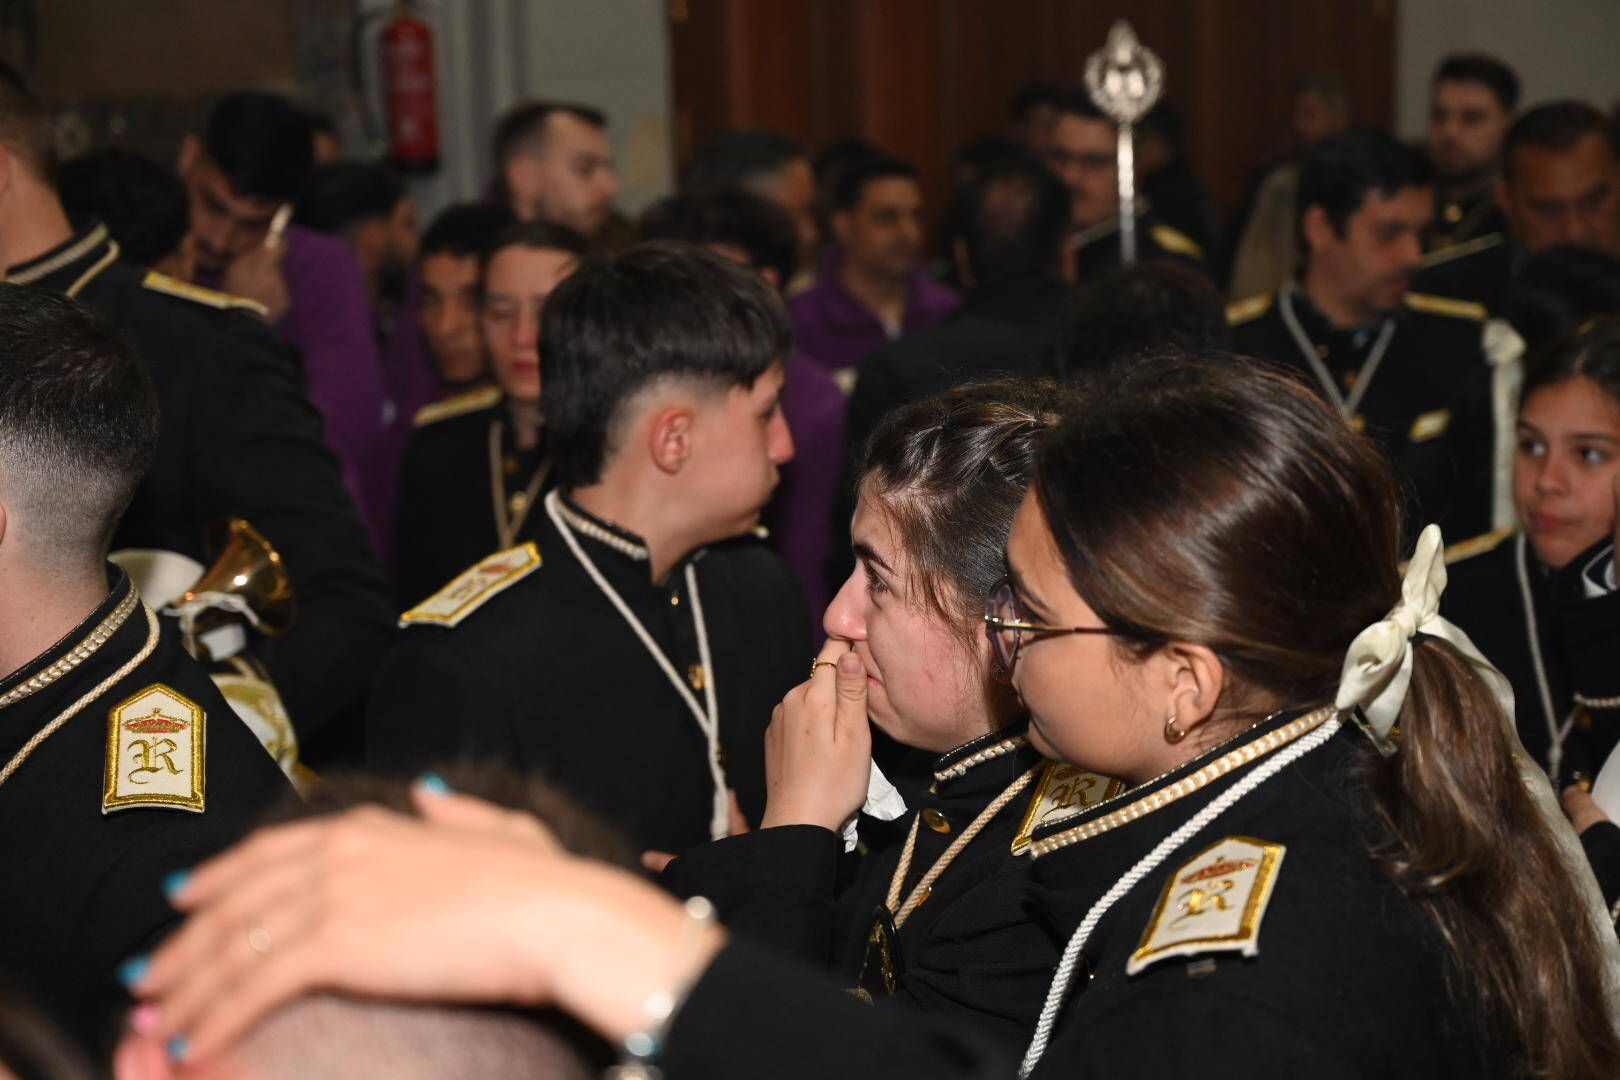
[[[292,202],[314,165],[309,113],[275,94],[227,94],[202,130],[202,149],[249,199]]]

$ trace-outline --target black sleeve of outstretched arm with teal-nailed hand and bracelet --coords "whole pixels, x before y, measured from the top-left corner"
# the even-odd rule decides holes
[[[972,1035],[865,1006],[744,941],[698,978],[659,1059],[669,1080],[1006,1080],[1014,1065]]]

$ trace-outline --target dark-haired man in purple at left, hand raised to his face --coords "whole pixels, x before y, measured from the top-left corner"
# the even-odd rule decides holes
[[[261,304],[303,356],[309,400],[371,528],[392,525],[392,415],[366,277],[337,236],[287,225],[313,168],[309,115],[274,94],[228,94],[180,147],[194,282]],[[277,219],[285,232],[277,233]]]

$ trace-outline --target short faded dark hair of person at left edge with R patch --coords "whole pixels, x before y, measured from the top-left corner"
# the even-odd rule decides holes
[[[157,452],[134,348],[57,293],[0,283],[0,499],[44,565],[107,554]]]

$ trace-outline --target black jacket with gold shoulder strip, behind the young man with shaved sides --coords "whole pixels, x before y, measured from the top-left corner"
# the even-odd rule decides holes
[[[499,476],[491,466],[491,432]],[[546,476],[530,497],[530,481],[541,468]],[[416,431],[400,463],[394,555],[394,593],[400,609],[436,593],[484,555],[510,546],[502,544],[496,531],[497,479],[499,512],[517,521],[512,542],[535,539],[544,517],[539,499],[549,489],[549,471],[544,442],[535,450],[514,445],[499,390],[473,390],[418,413]]]

